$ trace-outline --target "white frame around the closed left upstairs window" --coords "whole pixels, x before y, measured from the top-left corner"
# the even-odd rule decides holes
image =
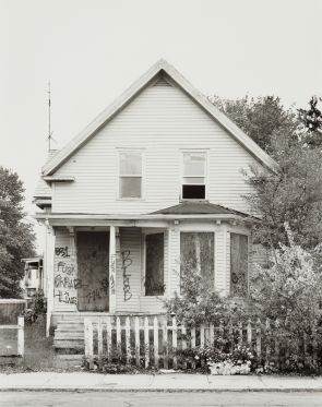
[[[145,154],[144,148],[117,148],[117,200],[118,201],[144,201],[144,179],[145,179]],[[121,175],[120,161],[123,153],[140,153],[141,154],[141,175]],[[141,178],[141,196],[121,196],[121,178]]]

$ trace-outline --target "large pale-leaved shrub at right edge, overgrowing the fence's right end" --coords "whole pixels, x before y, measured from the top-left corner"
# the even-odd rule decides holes
[[[277,340],[287,349],[288,370],[313,369],[315,361],[306,360],[303,351],[305,343],[311,354],[314,344],[322,343],[321,263],[296,244],[289,227],[285,228],[289,246],[281,243],[273,252],[270,267],[257,265],[251,276],[253,312],[263,321],[275,322],[266,340]]]

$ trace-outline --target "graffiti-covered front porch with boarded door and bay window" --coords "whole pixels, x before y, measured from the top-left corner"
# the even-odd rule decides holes
[[[248,218],[213,204],[193,214],[182,207],[190,210],[131,218],[47,215],[47,334],[76,323],[81,332],[84,316],[164,313],[165,300],[180,294],[182,261],[191,259],[218,292],[243,295]]]

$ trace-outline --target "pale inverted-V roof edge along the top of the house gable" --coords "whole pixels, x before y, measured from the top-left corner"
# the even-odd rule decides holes
[[[216,122],[230,133],[261,164],[276,169],[277,164],[227,116],[222,113],[204,95],[195,89],[171,64],[164,59],[157,61],[114,104],[96,117],[81,133],[68,143],[52,159],[43,167],[43,175],[52,175],[74,152],[82,147],[103,125],[111,120],[158,74],[166,73],[189,97],[191,97]]]

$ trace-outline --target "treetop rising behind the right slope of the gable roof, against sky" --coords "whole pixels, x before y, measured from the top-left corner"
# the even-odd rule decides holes
[[[285,109],[279,97],[245,96],[236,100],[212,96],[211,101],[271,155],[276,139],[287,135],[289,144],[298,141],[300,121],[294,108]]]

